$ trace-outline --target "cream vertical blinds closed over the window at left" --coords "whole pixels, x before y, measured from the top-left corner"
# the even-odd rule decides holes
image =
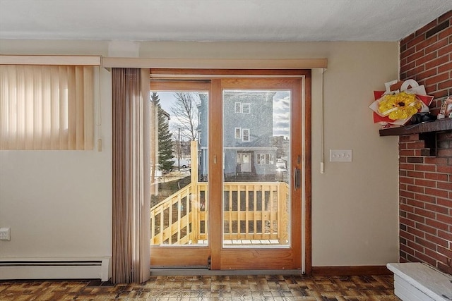
[[[0,149],[93,149],[93,66],[0,66]]]

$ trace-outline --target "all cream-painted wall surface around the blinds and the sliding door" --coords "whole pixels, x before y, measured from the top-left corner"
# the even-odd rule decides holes
[[[103,54],[102,41],[1,40],[1,54]],[[321,70],[312,89],[313,266],[398,260],[398,145],[379,137],[373,90],[398,78],[396,42],[143,42],[139,56],[179,59],[326,58],[324,141],[352,149],[352,163],[321,161]],[[111,254],[111,92],[102,70],[102,152],[0,151],[0,257]],[[55,183],[63,184],[55,188]],[[44,230],[44,231],[43,231]],[[48,232],[52,237],[47,236]]]

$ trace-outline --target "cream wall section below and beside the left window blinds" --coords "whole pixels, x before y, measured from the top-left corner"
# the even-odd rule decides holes
[[[11,228],[11,240],[0,241],[0,259],[111,257],[112,108],[105,69],[100,91],[95,141],[102,140],[101,152],[0,151],[0,226]]]

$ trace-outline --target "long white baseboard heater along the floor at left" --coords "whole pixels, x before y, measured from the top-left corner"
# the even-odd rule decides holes
[[[0,259],[0,280],[100,279],[108,281],[110,257],[90,259]]]

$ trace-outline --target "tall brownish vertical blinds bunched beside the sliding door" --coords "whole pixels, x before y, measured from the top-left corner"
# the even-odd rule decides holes
[[[150,276],[149,70],[113,68],[112,93],[112,281],[143,282]]]

